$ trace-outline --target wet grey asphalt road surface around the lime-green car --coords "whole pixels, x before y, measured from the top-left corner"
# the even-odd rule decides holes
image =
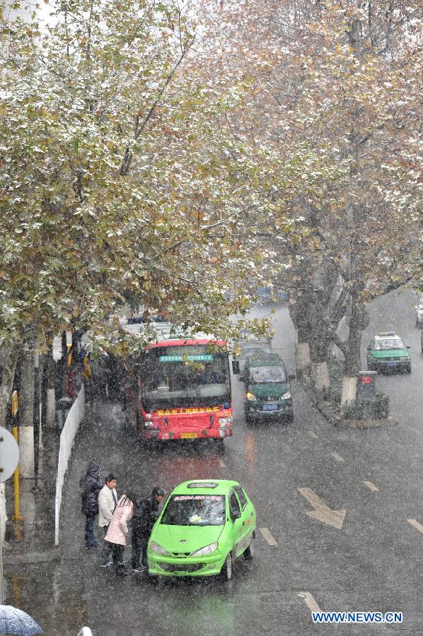
[[[399,305],[401,311],[402,301]],[[376,310],[372,335],[388,329],[376,325],[386,309]],[[291,370],[285,308],[277,312],[277,326],[276,344],[286,348]],[[413,329],[414,322],[402,324],[405,341],[415,338]],[[294,423],[246,425],[243,385],[233,379],[234,435],[224,453],[212,443],[178,442],[148,452],[127,428],[120,405],[98,404],[81,430],[71,464],[62,560],[8,566],[7,602],[25,608],[50,635],[76,635],[82,624],[95,636],[422,634],[423,534],[409,521],[423,526],[423,429],[412,402],[414,396],[417,403],[422,399],[422,369],[414,346],[411,351],[411,376],[380,379],[388,387],[397,387],[396,380],[408,382],[407,404],[400,389],[392,392],[400,425],[387,428],[330,427],[296,381]],[[79,478],[91,460],[103,474],[117,473],[118,493],[131,487],[148,494],[154,485],[170,490],[187,478],[238,479],[255,503],[257,529],[262,529],[254,560],[241,559],[229,583],[178,579],[156,586],[144,574],[121,580],[112,568],[100,569],[96,551],[83,549],[79,512]],[[301,493],[310,491],[330,509],[346,511],[340,529],[307,514],[313,505]],[[313,625],[303,593],[323,611],[402,611],[404,623]]]

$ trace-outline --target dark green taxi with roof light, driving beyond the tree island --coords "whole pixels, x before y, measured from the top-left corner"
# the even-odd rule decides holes
[[[408,349],[394,331],[381,331],[367,347],[369,371],[403,370],[411,373]]]

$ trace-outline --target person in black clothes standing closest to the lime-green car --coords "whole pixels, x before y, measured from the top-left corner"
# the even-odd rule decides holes
[[[147,569],[147,543],[151,529],[158,518],[158,507],[166,497],[166,490],[153,488],[150,497],[137,502],[132,517],[132,572],[144,572]],[[141,565],[139,558],[141,556]]]

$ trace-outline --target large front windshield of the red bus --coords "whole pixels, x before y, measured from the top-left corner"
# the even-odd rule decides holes
[[[147,411],[230,402],[228,355],[207,345],[151,348],[140,360],[139,388]]]

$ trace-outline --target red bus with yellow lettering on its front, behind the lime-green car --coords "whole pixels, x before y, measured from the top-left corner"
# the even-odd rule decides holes
[[[137,324],[125,325],[137,331]],[[134,360],[125,389],[127,419],[141,440],[214,439],[232,435],[231,374],[226,342],[210,336],[171,335]]]

